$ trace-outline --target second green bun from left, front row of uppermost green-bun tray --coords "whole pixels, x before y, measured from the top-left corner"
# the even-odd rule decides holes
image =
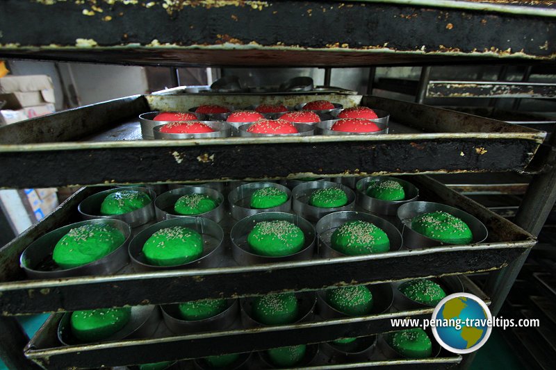
[[[143,254],[149,264],[177,266],[197,260],[203,254],[203,237],[195,230],[183,226],[163,228],[151,235]]]

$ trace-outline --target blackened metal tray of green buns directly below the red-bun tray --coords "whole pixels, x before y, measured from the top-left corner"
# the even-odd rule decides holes
[[[78,219],[79,202],[99,191],[88,187],[0,251],[0,312],[10,315],[177,303],[220,296],[237,298],[287,290],[318,290],[344,283],[379,283],[489,271],[505,267],[536,242],[523,229],[427,176],[404,178],[419,188],[421,200],[452,205],[480,219],[489,230],[489,238],[484,243],[468,246],[439,246],[333,259],[314,257],[243,267],[237,266],[228,250],[223,264],[211,269],[135,273],[124,268],[111,276],[26,280],[19,268],[19,255],[40,235]],[[229,233],[233,226],[231,217],[225,217],[220,226]]]

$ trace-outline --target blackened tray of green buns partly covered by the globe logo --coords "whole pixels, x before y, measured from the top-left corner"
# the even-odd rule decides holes
[[[471,280],[465,276],[460,278],[465,292],[475,294],[487,304],[490,303],[489,297]],[[58,323],[63,315],[53,314],[28,343],[25,355],[45,369],[114,367],[202,358],[222,353],[241,353],[277,346],[327,342],[338,339],[338,337],[361,337],[386,333],[395,329],[391,326],[393,318],[425,319],[430,317],[433,310],[434,308],[416,308],[396,312],[392,309],[383,314],[332,320],[323,320],[317,316],[310,322],[252,329],[243,328],[236,321],[231,328],[225,330],[189,335],[175,335],[161,323],[153,337],[72,346],[63,346],[58,342],[56,330],[58,330]],[[457,355],[444,354],[449,357],[424,359],[416,364],[436,365],[434,368],[438,368],[440,364],[459,362],[460,360]],[[399,364],[408,366],[414,364],[407,360],[383,359],[383,361],[392,362],[392,364],[400,361]]]

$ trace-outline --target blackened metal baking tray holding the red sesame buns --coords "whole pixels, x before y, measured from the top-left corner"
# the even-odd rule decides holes
[[[295,106],[315,99],[390,112],[389,133],[200,140],[142,140],[140,134],[144,112],[187,111],[203,103]],[[523,171],[545,135],[376,96],[137,95],[1,127],[0,187]]]

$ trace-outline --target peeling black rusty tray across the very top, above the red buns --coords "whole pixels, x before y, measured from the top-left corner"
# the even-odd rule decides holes
[[[0,2],[0,56],[171,66],[551,61],[555,15],[548,0],[11,0]]]

